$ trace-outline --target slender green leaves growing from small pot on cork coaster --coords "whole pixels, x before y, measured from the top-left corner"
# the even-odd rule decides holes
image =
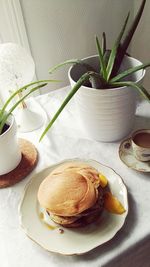
[[[2,108],[0,110],[0,134],[2,134],[4,125],[7,124],[7,120],[9,118],[9,116],[16,109],[16,107],[27,96],[29,96],[31,93],[35,92],[36,90],[46,86],[49,82],[58,82],[58,81],[57,80],[40,80],[40,81],[31,82],[31,83],[19,88],[14,93],[12,93],[12,95],[6,100],[6,102],[4,103],[4,105],[2,106]],[[16,101],[16,103],[13,104],[11,108],[8,108],[9,104],[11,104],[12,100],[15,98],[16,95],[18,95],[19,93],[22,93],[23,91],[25,91],[26,89],[28,89],[30,87],[32,87],[32,88],[29,89],[29,91],[24,96],[22,96],[18,101]]]

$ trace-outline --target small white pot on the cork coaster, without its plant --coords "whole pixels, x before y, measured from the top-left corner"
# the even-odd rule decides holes
[[[10,125],[9,128],[0,135],[0,175],[12,171],[21,161],[17,125],[12,115],[7,123]]]

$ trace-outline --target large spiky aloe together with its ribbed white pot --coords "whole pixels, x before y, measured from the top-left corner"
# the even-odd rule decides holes
[[[98,55],[82,60],[67,60],[50,69],[52,73],[66,64],[73,64],[68,74],[72,89],[40,140],[75,94],[80,117],[92,138],[100,141],[116,141],[131,131],[136,109],[136,91],[150,101],[150,95],[141,85],[145,69],[150,66],[150,63],[142,64],[127,54],[127,48],[145,3],[146,0],[143,0],[122,41],[129,19],[129,14],[127,15],[111,50],[106,47],[106,35],[103,33],[102,45],[96,36]]]

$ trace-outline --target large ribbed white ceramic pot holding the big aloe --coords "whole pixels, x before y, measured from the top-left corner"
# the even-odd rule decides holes
[[[84,62],[97,69],[98,56],[85,58]],[[121,69],[141,64],[140,61],[125,57]],[[69,80],[73,87],[83,73],[79,64],[69,69]],[[132,75],[132,81],[140,83],[145,71]],[[94,89],[81,86],[75,94],[79,118],[90,138],[97,141],[112,142],[127,136],[134,125],[137,92],[131,87]]]

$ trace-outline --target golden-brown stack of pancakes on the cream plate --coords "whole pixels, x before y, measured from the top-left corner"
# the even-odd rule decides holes
[[[64,227],[80,227],[100,218],[104,188],[92,166],[72,161],[55,168],[40,184],[38,201],[49,218]]]

